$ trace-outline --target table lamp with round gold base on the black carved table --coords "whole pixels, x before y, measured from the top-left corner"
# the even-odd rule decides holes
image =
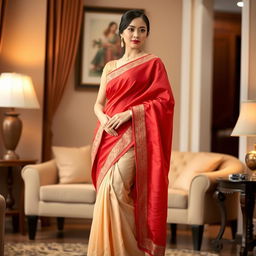
[[[240,114],[231,136],[256,136],[256,100],[243,101]],[[256,144],[245,156],[247,167],[256,171]],[[255,173],[256,174],[256,173]],[[252,175],[252,179],[255,179]]]

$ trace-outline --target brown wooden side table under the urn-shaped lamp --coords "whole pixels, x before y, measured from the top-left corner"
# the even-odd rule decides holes
[[[12,216],[13,231],[17,232],[18,230],[21,234],[25,235],[25,225],[24,225],[24,183],[21,184],[20,191],[20,202],[18,209],[14,209],[15,199],[13,197],[13,168],[18,169],[20,172],[25,165],[35,164],[37,160],[27,160],[27,159],[18,159],[18,160],[2,160],[0,159],[0,167],[7,168],[7,196],[6,200],[6,216]]]

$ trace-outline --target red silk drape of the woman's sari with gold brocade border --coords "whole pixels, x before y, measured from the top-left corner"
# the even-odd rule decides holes
[[[133,191],[138,246],[162,256],[166,243],[168,172],[174,98],[161,60],[146,55],[107,75],[105,113],[132,109],[132,121],[111,136],[98,126],[92,147],[92,179],[96,189],[110,167],[134,145]]]

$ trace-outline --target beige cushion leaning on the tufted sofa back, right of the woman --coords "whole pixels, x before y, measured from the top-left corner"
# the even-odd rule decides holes
[[[188,191],[191,181],[196,175],[216,170],[222,160],[223,157],[220,155],[197,153],[179,173],[179,176],[175,179],[172,188]]]

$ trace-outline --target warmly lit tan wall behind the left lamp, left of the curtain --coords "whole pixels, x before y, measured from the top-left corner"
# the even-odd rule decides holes
[[[40,110],[17,109],[23,132],[16,152],[21,158],[41,159],[42,102],[44,84],[46,0],[9,0],[0,53],[0,73],[18,72],[31,76]],[[2,123],[5,109],[0,108]],[[0,136],[0,157],[4,152]],[[15,197],[18,198],[20,175],[14,173]],[[6,171],[1,169],[0,193],[6,195]],[[16,201],[17,202],[17,201]]]

